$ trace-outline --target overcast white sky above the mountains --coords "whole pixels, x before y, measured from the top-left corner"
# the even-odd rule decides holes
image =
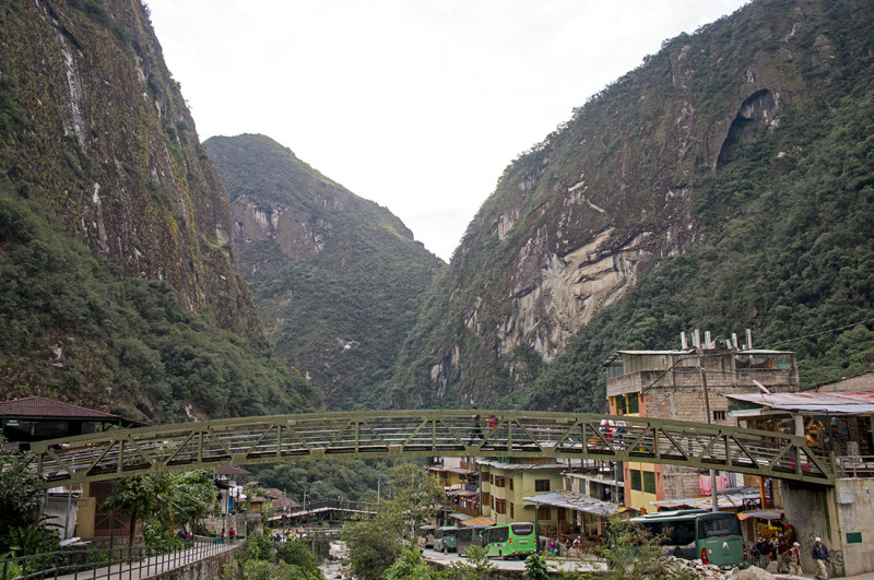
[[[202,141],[263,133],[449,260],[504,168],[747,0],[146,0]]]

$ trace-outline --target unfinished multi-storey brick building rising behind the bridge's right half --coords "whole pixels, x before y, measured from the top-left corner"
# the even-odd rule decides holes
[[[657,417],[714,425],[734,425],[728,416],[727,394],[799,390],[795,354],[786,351],[739,347],[732,340],[698,339],[680,351],[617,351],[604,363],[606,394],[612,415]],[[614,426],[615,427],[615,426]],[[625,506],[656,511],[656,501],[710,492],[707,472],[673,465],[628,462],[623,465]],[[713,478],[717,488],[743,482],[734,474]]]

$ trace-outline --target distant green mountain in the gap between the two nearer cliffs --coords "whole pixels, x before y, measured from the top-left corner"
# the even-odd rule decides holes
[[[383,406],[385,381],[444,262],[387,209],[263,135],[204,142],[231,194],[233,238],[277,354],[331,409]]]

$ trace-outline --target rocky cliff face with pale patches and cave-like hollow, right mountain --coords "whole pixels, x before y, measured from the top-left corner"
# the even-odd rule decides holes
[[[523,389],[656,264],[706,242],[704,210],[721,203],[714,179],[786,119],[813,113],[817,84],[857,58],[837,48],[845,32],[832,19],[863,26],[862,12],[754,2],[666,42],[517,158],[453,256],[436,322],[411,340],[427,354],[402,355],[395,380],[420,384],[413,402]]]

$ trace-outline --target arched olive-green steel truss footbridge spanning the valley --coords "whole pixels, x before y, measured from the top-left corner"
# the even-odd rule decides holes
[[[32,450],[46,487],[220,465],[433,455],[600,459],[835,481],[834,463],[798,435],[647,417],[475,413],[479,419],[470,410],[426,410],[177,423],[39,441]]]

